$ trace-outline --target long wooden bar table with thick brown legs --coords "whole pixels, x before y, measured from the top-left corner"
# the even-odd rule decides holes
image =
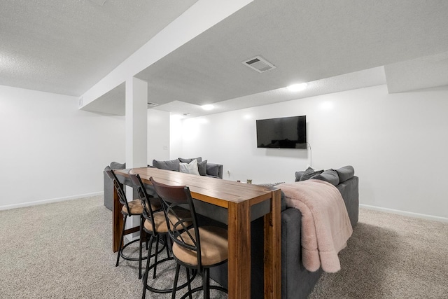
[[[264,217],[265,235],[265,298],[281,298],[281,190],[269,190],[223,179],[184,174],[153,167],[122,169],[114,171],[120,182],[132,186],[128,172],[139,174],[146,186],[149,178],[171,186],[188,186],[192,197],[206,203],[216,211],[227,210],[228,225],[228,298],[251,298],[251,220]],[[196,205],[196,202],[195,202]],[[199,209],[200,210],[200,209]],[[120,246],[120,228],[123,216],[121,204],[114,191],[113,200],[113,251]],[[200,213],[200,211],[198,211]],[[218,214],[218,213],[216,213]],[[208,215],[206,215],[208,216]],[[126,230],[135,232],[138,228]]]

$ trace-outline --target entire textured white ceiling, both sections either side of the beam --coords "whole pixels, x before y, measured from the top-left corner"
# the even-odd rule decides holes
[[[82,95],[195,3],[102,2],[2,1],[0,84]],[[448,85],[447,17],[446,0],[255,0],[137,77],[153,109],[190,116],[384,83],[389,92]],[[255,55],[276,69],[241,64]],[[309,88],[283,88],[295,82]],[[86,110],[123,114],[124,88]]]

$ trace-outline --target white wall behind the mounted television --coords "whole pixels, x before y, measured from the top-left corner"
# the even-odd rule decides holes
[[[177,155],[253,183],[292,182],[308,164],[353,165],[361,204],[448,218],[447,99],[447,87],[389,95],[380,85],[191,118],[177,125]],[[256,119],[296,115],[307,116],[312,151],[256,148]]]

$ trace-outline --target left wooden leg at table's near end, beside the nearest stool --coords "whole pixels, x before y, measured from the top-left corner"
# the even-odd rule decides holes
[[[251,209],[248,201],[229,202],[228,298],[251,298]]]

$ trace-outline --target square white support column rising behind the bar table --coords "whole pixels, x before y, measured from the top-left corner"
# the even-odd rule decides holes
[[[126,168],[148,165],[148,83],[139,78],[126,81]],[[133,188],[126,186],[127,200],[134,200]],[[137,193],[135,193],[137,195]],[[127,221],[127,228],[139,225],[139,218]],[[138,233],[133,234],[134,237]]]

